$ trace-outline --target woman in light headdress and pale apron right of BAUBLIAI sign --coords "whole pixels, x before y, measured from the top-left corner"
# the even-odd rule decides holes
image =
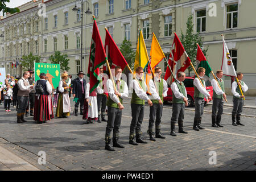
[[[56,118],[67,118],[71,112],[70,100],[68,97],[69,86],[67,84],[68,74],[63,73],[59,82],[59,96],[57,101]]]

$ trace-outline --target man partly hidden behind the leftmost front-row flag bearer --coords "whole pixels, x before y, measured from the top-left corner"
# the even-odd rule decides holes
[[[103,78],[106,79],[105,77],[103,77],[104,73],[103,73],[103,68],[100,68],[100,77],[101,77],[101,82],[100,82],[100,89],[102,90],[101,92],[103,92],[102,94],[97,94],[97,104],[98,104],[98,122],[100,123],[101,121],[106,121],[105,119],[105,113],[106,113],[106,102],[107,102],[107,96],[104,93],[104,82],[103,82]]]

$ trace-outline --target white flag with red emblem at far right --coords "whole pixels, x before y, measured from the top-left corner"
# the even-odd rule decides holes
[[[237,73],[236,73],[236,70],[234,69],[234,65],[229,54],[229,49],[226,46],[223,35],[222,35],[222,40],[223,40],[223,55],[222,55],[221,69],[223,71],[223,75],[237,77]]]

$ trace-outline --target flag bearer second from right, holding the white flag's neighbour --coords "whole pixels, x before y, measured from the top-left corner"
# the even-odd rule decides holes
[[[226,99],[224,80],[222,80],[223,72],[222,70],[217,70],[216,78],[217,81],[213,78],[211,81],[213,88],[212,96],[212,127],[223,127],[221,122],[221,115],[223,113],[224,99]],[[218,86],[220,85],[220,87]],[[217,113],[218,111],[218,113]]]

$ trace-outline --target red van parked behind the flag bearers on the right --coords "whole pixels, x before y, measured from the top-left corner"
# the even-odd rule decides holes
[[[184,80],[184,85],[185,85],[185,88],[187,90],[187,95],[188,95],[188,106],[193,106],[194,105],[194,101],[195,101],[194,100],[194,85],[193,85],[193,81],[194,81],[193,77],[185,77],[185,80]],[[210,93],[210,97],[212,97],[212,94],[213,94],[212,86],[207,86],[206,89]],[[170,85],[168,85],[167,97],[164,97],[164,102],[168,102],[168,101],[170,101],[170,102],[172,101],[172,90],[171,90],[171,86]],[[206,104],[206,102],[205,102],[205,104]]]

